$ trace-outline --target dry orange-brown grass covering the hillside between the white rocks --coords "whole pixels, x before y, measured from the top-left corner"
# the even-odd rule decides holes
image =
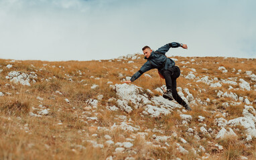
[[[229,113],[227,120],[241,117],[243,116],[245,103],[224,108],[221,106],[222,103],[232,103],[233,100],[230,98],[218,99],[216,93],[219,90],[223,93],[229,91],[229,85],[211,88],[205,83],[196,83],[197,79],[193,81],[184,78],[194,68],[196,69],[196,73],[194,73],[196,77],[208,75],[209,79],[214,79],[214,77],[227,79],[239,76],[239,78],[250,82],[251,79],[245,75],[245,71],[256,73],[255,59],[193,57],[196,61],[184,64],[182,61],[190,61],[192,58],[174,58],[179,60],[176,61],[176,65],[180,67],[183,75],[177,80],[178,87],[188,88],[194,99],[200,99],[204,102],[207,98],[210,99],[207,106],[199,104],[192,107],[193,111],[188,114],[192,115],[193,119],[188,126],[182,125],[182,119],[180,119],[177,109],[170,115],[152,118],[150,116],[141,117],[143,107],[129,114],[122,111],[109,111],[106,108],[106,105],[117,106],[115,102],[109,101],[111,98],[117,99],[117,95],[107,82],[112,81],[115,85],[121,83],[123,78],[133,75],[145,63],[142,55],[141,59],[133,60],[134,63],[127,63],[131,59],[122,61],[117,61],[117,59],[113,61],[102,60],[101,62],[15,61],[12,63],[9,62],[10,60],[0,59],[0,69],[3,69],[0,73],[0,91],[4,94],[3,97],[0,97],[0,159],[106,159],[110,155],[114,155],[115,146],[107,147],[104,135],[110,135],[114,143],[117,143],[127,141],[127,138],[131,138],[131,135],[137,133],[123,131],[118,128],[111,131],[104,130],[104,128],[113,126],[114,123],[116,125],[121,123],[117,115],[125,115],[127,121],[131,119],[131,124],[139,126],[141,132],[145,132],[147,129],[159,129],[163,133],[148,132],[145,139],[136,137],[133,141],[133,149],[126,149],[123,154],[115,154],[115,159],[125,159],[128,155],[132,155],[135,159],[175,159],[176,157],[196,159],[196,157],[204,156],[204,153],[198,153],[197,156],[190,149],[192,147],[198,149],[202,145],[207,151],[210,151],[208,141],[212,141],[214,144],[219,143],[225,147],[221,153],[208,152],[210,153],[209,159],[237,159],[240,155],[249,158],[255,157],[255,138],[250,142],[252,147],[247,148],[245,143],[241,141],[242,138],[227,138],[218,141],[205,137],[205,139],[198,141],[186,134],[189,127],[201,127],[202,124],[198,122],[198,115],[206,117],[203,123],[207,125],[207,129],[211,127],[216,134],[218,127],[214,124],[214,115],[222,115],[223,112]],[[241,61],[244,61],[244,63],[241,63]],[[13,67],[8,69],[6,67],[8,64],[12,64]],[[225,67],[228,73],[223,74],[219,71],[218,67],[220,66]],[[234,73],[232,72],[233,68],[236,69]],[[239,69],[242,71],[240,75],[236,75]],[[35,72],[38,75],[37,82],[31,83],[31,86],[11,83],[8,79],[5,79],[10,71]],[[119,77],[119,73],[122,73],[123,77]],[[155,88],[161,86],[157,71],[152,70],[147,74],[151,75],[152,79],[142,75],[133,84],[143,87],[143,92],[149,97],[153,95],[147,92],[146,89],[153,91],[154,95],[160,95],[157,91],[154,91]],[[99,85],[99,87],[91,89],[90,87],[93,84]],[[165,84],[163,80],[162,84]],[[255,82],[251,84],[255,84]],[[238,88],[239,85],[233,87]],[[62,94],[56,93],[56,91]],[[237,91],[235,89],[231,91],[239,97],[247,97],[251,102],[256,99],[255,91]],[[186,96],[186,93],[184,94]],[[88,99],[97,99],[98,95],[103,95],[103,99],[99,100],[97,109],[85,109],[89,106]],[[44,100],[40,101],[37,97]],[[67,103],[64,99],[68,99],[70,103]],[[214,101],[215,99],[216,101]],[[29,112],[38,113],[39,106],[48,109],[48,115],[42,117],[29,116]],[[255,104],[253,106],[255,107]],[[209,111],[215,111],[216,113],[213,114]],[[88,117],[97,117],[98,119],[88,120]],[[245,137],[244,129],[242,127],[239,129],[240,132],[235,131],[238,137]],[[179,137],[186,139],[188,143],[182,144],[179,139],[172,138],[167,141],[170,144],[170,147],[168,147],[164,143],[156,143],[151,138],[153,134],[172,135],[174,132]],[[97,135],[92,136],[93,134]],[[92,144],[87,140],[97,141],[97,143],[103,144],[104,147],[103,149],[92,147]],[[146,141],[165,146],[167,150],[150,147]],[[177,151],[175,143],[182,144],[190,153],[182,155]]]

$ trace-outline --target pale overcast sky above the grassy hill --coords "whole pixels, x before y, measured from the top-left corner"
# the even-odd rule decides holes
[[[167,55],[256,58],[256,1],[0,0],[0,59],[112,59],[170,42]]]

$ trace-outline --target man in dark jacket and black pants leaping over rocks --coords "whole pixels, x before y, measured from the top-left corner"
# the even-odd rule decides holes
[[[133,77],[131,77],[131,80],[124,81],[123,83],[131,83],[146,71],[149,71],[150,69],[158,69],[159,73],[161,73],[161,75],[166,79],[167,92],[164,93],[163,97],[170,101],[175,99],[180,105],[185,107],[186,110],[191,111],[192,109],[190,106],[183,101],[176,90],[176,79],[180,77],[180,69],[175,65],[175,62],[172,59],[166,57],[166,52],[169,51],[171,47],[182,47],[184,49],[188,49],[187,45],[176,42],[168,43],[156,51],[152,51],[148,46],[143,47],[142,51],[145,55],[144,59],[147,59],[147,62],[133,75]]]

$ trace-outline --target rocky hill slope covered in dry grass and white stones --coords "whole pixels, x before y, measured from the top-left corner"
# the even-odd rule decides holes
[[[143,55],[0,59],[1,159],[253,159],[256,59],[172,57],[186,112]]]

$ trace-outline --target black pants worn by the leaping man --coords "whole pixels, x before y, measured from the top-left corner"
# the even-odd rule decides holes
[[[178,95],[177,93],[177,82],[176,79],[180,77],[180,68],[174,66],[172,68],[166,69],[164,71],[164,79],[166,79],[166,87],[167,89],[172,90],[172,96],[180,105],[186,105],[186,102]]]

